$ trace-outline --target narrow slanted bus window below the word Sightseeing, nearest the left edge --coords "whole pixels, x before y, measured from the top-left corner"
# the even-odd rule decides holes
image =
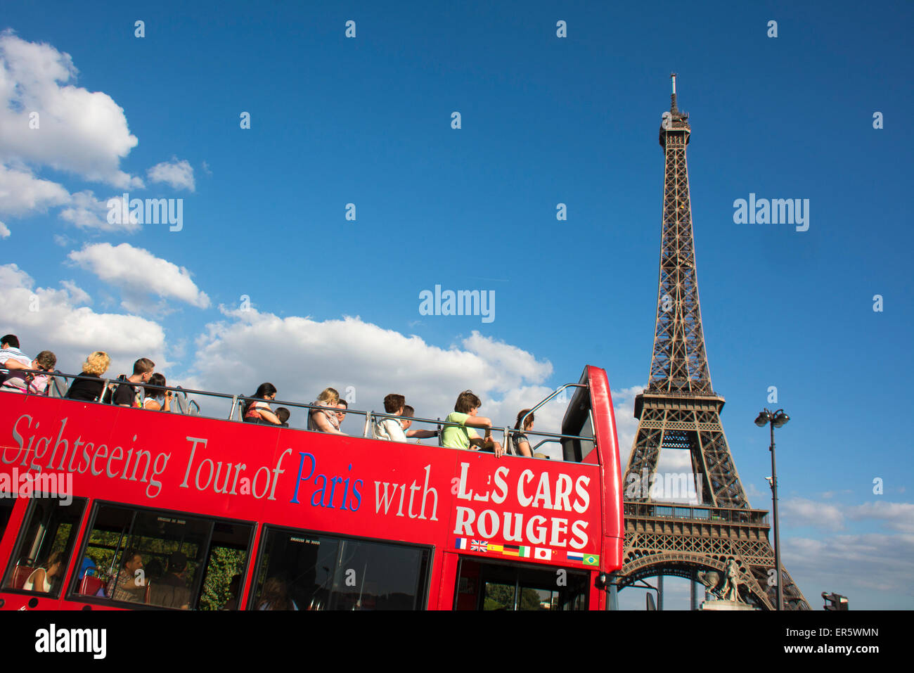
[[[16,550],[6,569],[4,589],[60,595],[73,543],[80,530],[86,501],[74,498],[69,505],[56,497],[35,497],[29,503]],[[48,562],[50,561],[50,563]],[[38,569],[43,573],[36,574]],[[44,576],[44,580],[38,578]]]

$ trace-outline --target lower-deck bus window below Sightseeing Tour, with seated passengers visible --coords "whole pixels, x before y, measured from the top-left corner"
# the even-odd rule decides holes
[[[80,578],[77,593],[115,603],[218,610],[247,561],[252,531],[247,523],[100,505],[83,552],[97,571]]]

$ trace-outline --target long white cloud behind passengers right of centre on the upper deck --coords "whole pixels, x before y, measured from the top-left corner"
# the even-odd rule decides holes
[[[460,347],[441,348],[358,317],[320,322],[222,310],[226,319],[209,324],[197,339],[187,386],[250,394],[269,380],[281,400],[305,403],[327,386],[344,396],[351,386],[356,399],[350,406],[362,411],[382,410],[384,396],[399,392],[425,418],[444,418],[458,393],[472,389],[483,399],[480,415],[499,427],[514,427],[517,411],[551,391],[539,385],[551,364],[478,333]],[[564,411],[558,404],[537,411],[537,430],[558,431]],[[292,414],[292,425],[302,427],[303,414]],[[360,433],[361,425],[353,420],[347,431]]]

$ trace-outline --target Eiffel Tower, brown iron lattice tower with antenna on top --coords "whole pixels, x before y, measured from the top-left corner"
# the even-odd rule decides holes
[[[647,389],[634,403],[638,433],[623,482],[624,564],[615,583],[622,589],[658,575],[692,582],[702,577],[713,590],[727,576],[732,559],[739,570],[739,601],[773,610],[777,575],[768,511],[749,507],[720,424],[724,399],[711,387],[707,368],[685,164],[691,128],[688,114],[676,107],[675,74],[671,77],[670,111],[664,112],[660,127],[664,216],[654,356]],[[689,452],[700,504],[651,497],[663,449]],[[799,587],[782,567],[781,578],[784,609],[808,610]]]

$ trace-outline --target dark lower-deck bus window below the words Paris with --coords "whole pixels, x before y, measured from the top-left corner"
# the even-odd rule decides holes
[[[266,529],[250,610],[420,610],[430,550]]]

